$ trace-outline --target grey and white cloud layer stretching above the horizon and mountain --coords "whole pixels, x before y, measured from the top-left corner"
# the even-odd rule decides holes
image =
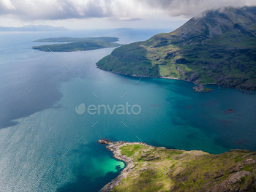
[[[190,18],[210,9],[256,5],[255,0],[0,0],[0,17],[24,20],[116,18],[139,20],[167,15]],[[11,11],[9,11],[6,5]]]

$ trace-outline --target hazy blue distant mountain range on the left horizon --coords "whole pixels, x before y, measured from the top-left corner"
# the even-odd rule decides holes
[[[68,31],[69,29],[65,27],[53,27],[53,26],[22,26],[22,27],[2,27],[0,26],[0,31]]]

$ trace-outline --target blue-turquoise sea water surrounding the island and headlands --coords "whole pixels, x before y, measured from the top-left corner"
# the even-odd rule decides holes
[[[103,32],[123,43],[156,34]],[[256,150],[255,95],[216,85],[208,85],[213,92],[196,93],[192,83],[178,80],[138,82],[97,69],[95,63],[113,48],[52,55],[31,50],[36,43],[29,33],[1,35],[0,191],[99,191],[124,168],[97,143],[102,138],[139,142],[139,137],[149,145],[208,153]],[[8,38],[17,42],[9,45]],[[75,112],[82,103],[112,109],[127,102],[140,105],[140,114]]]

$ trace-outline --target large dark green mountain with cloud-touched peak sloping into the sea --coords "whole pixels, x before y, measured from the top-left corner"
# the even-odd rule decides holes
[[[116,48],[100,69],[256,91],[256,7],[202,12],[170,33]]]

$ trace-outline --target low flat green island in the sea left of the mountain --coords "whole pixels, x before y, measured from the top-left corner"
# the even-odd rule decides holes
[[[120,44],[117,42],[116,37],[85,37],[85,38],[72,38],[72,37],[58,37],[39,39],[34,42],[65,42],[57,43],[53,45],[39,45],[34,46],[32,49],[41,51],[58,51],[58,52],[70,52],[70,51],[82,51],[82,50],[96,50],[106,47],[118,47]],[[50,50],[49,50],[50,49]]]

